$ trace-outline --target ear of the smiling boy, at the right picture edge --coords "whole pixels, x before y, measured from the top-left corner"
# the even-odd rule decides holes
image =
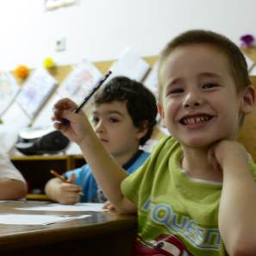
[[[242,101],[240,105],[240,113],[250,114],[255,107],[256,91],[253,85],[247,86],[242,95]]]

